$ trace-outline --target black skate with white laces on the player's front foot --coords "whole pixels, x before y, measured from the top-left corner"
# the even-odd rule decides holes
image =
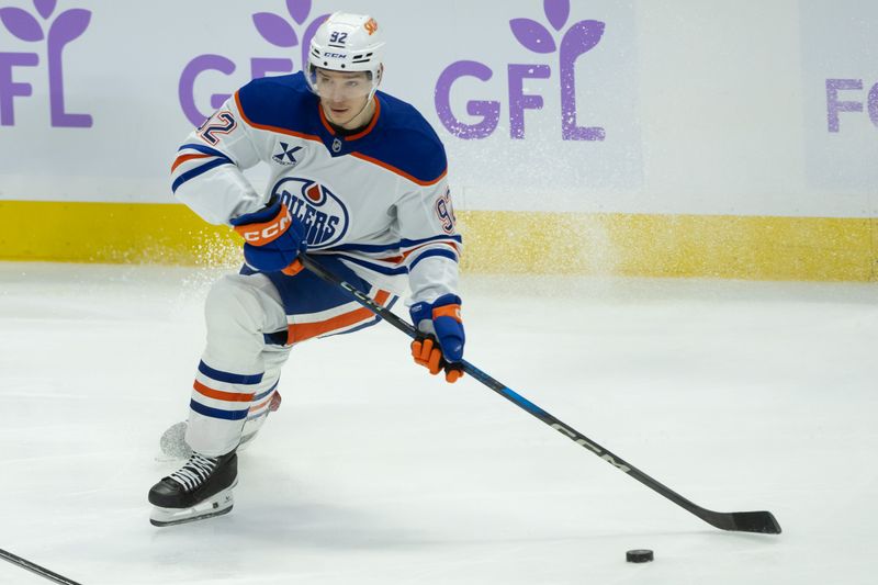
[[[192,522],[232,511],[232,488],[238,483],[238,455],[192,453],[185,465],[149,490],[155,506],[149,521],[154,526]]]

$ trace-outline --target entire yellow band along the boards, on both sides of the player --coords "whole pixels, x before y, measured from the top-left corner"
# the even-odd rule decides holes
[[[878,218],[458,212],[477,273],[878,280]],[[0,260],[234,266],[179,204],[0,201]]]

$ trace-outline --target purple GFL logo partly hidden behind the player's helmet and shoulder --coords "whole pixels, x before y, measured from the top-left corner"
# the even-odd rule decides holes
[[[308,45],[314,33],[317,32],[323,21],[329,18],[329,14],[322,14],[305,25],[311,8],[311,0],[286,0],[286,11],[292,16],[293,22],[297,26],[304,27],[301,35],[296,33],[296,26],[290,24],[284,16],[271,12],[255,13],[252,15],[254,25],[259,35],[275,47],[292,48],[297,45],[301,46],[302,64],[304,66],[308,58]],[[250,79],[266,77],[269,74],[290,74],[295,71],[294,67],[293,59],[289,58],[252,57],[250,59]],[[178,88],[180,106],[183,110],[183,114],[193,125],[201,125],[210,115],[200,112],[195,105],[195,81],[199,76],[205,71],[219,71],[228,76],[234,74],[235,69],[235,63],[222,55],[200,55],[183,68]],[[218,109],[229,97],[228,93],[211,95],[211,108],[213,110]]]

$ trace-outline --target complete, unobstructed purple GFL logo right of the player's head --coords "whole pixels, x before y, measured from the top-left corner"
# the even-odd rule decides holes
[[[549,24],[560,34],[570,19],[570,0],[543,0],[543,11]],[[600,42],[606,24],[594,20],[576,22],[561,35],[531,19],[513,19],[509,27],[516,40],[528,50],[537,54],[559,54],[559,75],[561,81],[561,135],[565,140],[603,140],[603,127],[583,127],[576,121],[576,60]],[[529,78],[549,79],[552,68],[549,65],[509,64],[509,136],[525,137],[525,110],[541,110],[540,95],[526,94],[524,81]],[[498,101],[471,100],[466,102],[466,113],[481,116],[476,124],[464,124],[451,111],[451,86],[461,77],[475,77],[482,81],[492,78],[494,71],[479,61],[460,60],[449,65],[436,83],[436,112],[442,125],[454,136],[463,139],[485,138],[497,128],[500,116]]]

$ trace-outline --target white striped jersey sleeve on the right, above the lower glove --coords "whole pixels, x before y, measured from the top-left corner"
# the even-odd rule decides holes
[[[443,294],[457,294],[462,239],[446,178],[413,188],[397,204],[396,213],[409,301],[432,302]]]

